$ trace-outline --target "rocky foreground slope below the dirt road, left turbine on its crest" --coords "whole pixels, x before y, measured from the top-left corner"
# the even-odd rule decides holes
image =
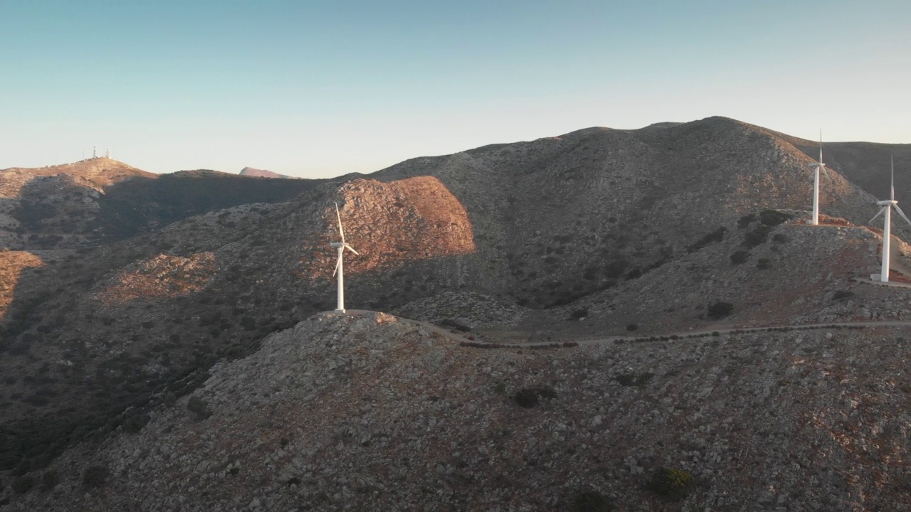
[[[906,510],[908,350],[884,328],[481,350],[323,313],[0,509]]]

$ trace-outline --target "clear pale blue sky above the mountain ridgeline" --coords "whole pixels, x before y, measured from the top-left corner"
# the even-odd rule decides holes
[[[0,0],[0,169],[308,178],[728,116],[911,143],[911,2]]]

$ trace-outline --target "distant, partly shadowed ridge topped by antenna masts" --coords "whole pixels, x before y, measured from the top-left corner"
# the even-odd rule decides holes
[[[244,179],[210,170],[156,175],[114,159],[0,170],[0,244],[77,249],[155,230],[210,210],[290,200],[321,180]]]

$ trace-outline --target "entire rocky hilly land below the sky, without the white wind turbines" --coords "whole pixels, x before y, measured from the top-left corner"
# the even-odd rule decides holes
[[[911,509],[906,147],[826,148],[818,226],[816,143],[730,118],[0,170],[0,510]]]

